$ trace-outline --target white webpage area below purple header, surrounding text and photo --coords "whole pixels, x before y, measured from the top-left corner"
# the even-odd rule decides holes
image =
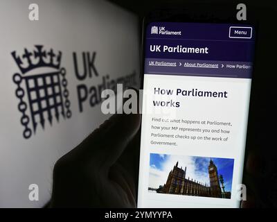
[[[152,117],[165,117],[162,114],[143,114],[141,131],[141,160],[139,172],[139,207],[238,207],[236,187],[242,182],[244,147],[247,132],[251,79],[215,78],[195,76],[144,75],[144,89],[154,94],[154,87],[161,89],[187,89],[228,92],[228,98],[193,96],[172,96],[180,102],[179,108],[166,108],[176,119],[224,121],[233,124],[228,142],[191,141],[178,139],[178,146],[152,145],[150,136]],[[151,96],[143,94],[145,112],[153,108]],[[176,91],[175,91],[176,92]],[[169,99],[164,97],[164,101]],[[177,111],[177,112],[176,112]],[[159,123],[154,123],[159,126]],[[185,126],[184,126],[185,127]],[[190,126],[187,126],[190,127]],[[198,128],[199,126],[197,126]],[[155,132],[157,133],[157,132]],[[161,133],[161,132],[159,132]],[[163,132],[165,133],[165,132]],[[181,133],[180,133],[181,134]],[[164,139],[154,139],[163,141]],[[174,142],[174,139],[166,141]],[[177,140],[176,140],[177,141]],[[155,194],[148,192],[150,153],[188,155],[201,157],[222,157],[234,159],[231,199],[206,198],[197,196]],[[186,166],[183,166],[186,167]],[[173,166],[172,166],[173,168]],[[169,173],[169,172],[168,172]],[[166,181],[164,181],[166,183]]]

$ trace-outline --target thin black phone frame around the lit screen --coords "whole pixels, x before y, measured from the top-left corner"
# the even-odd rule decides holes
[[[226,6],[229,6],[225,8]],[[233,6],[233,8],[231,8]],[[143,89],[143,81],[144,81],[144,65],[145,65],[145,31],[148,27],[148,24],[152,22],[191,22],[191,23],[215,23],[215,24],[245,24],[249,26],[253,26],[256,31],[256,39],[255,39],[255,51],[257,47],[258,42],[258,20],[254,17],[250,17],[246,21],[238,21],[236,19],[236,12],[238,12],[235,8],[235,4],[189,4],[185,8],[172,8],[171,6],[169,8],[166,8],[166,6],[162,9],[154,9],[152,10],[147,16],[143,18],[143,28],[142,28],[142,36],[141,36],[141,56],[140,56],[140,89]],[[197,7],[197,10],[191,10],[192,8]],[[222,8],[225,8],[222,10]],[[210,10],[209,10],[210,9]],[[212,9],[212,10],[211,10]],[[218,10],[220,9],[220,10]],[[253,12],[256,11],[256,8],[250,8]],[[255,14],[255,13],[253,13]],[[252,14],[252,15],[253,15]],[[256,62],[256,53],[253,56],[253,64]],[[253,89],[253,76],[255,72],[254,66],[252,71],[252,79],[251,79],[251,92],[250,92],[250,100],[249,100],[249,117],[248,117],[248,123],[251,120],[251,114],[250,111],[253,110],[253,101],[254,101],[254,93],[256,92],[255,89]],[[142,104],[142,103],[141,103]],[[142,109],[141,109],[142,110]],[[141,135],[141,128],[139,134]],[[247,158],[247,151],[249,151],[249,138],[253,137],[253,135],[249,135],[249,128],[247,127],[247,140],[245,144],[245,153],[244,153],[244,168],[242,175],[244,175],[244,169],[246,164],[246,158]],[[139,140],[140,144],[140,152],[139,152],[139,163],[141,160],[141,139]],[[139,167],[138,167],[139,169]],[[140,169],[139,169],[140,170]],[[138,203],[138,194],[139,191],[139,173],[137,178],[137,186],[136,186],[136,203]]]

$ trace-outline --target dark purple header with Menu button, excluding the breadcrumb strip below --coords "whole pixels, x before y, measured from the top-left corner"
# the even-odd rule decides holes
[[[255,29],[241,24],[154,22],[145,58],[253,62]]]

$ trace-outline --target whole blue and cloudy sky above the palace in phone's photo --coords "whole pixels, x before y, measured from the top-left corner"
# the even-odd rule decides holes
[[[217,166],[218,174],[222,174],[224,178],[225,191],[231,191],[233,178],[233,159],[226,158],[212,158]],[[186,178],[190,177],[193,180],[207,183],[208,178],[208,164],[210,157],[190,157],[179,155],[165,155],[165,154],[150,154],[150,178],[149,187],[157,188],[159,185],[166,183],[168,173],[179,162],[178,167],[187,167]]]

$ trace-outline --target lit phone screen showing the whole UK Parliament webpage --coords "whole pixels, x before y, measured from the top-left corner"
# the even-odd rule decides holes
[[[239,207],[255,29],[152,22],[138,207]]]

